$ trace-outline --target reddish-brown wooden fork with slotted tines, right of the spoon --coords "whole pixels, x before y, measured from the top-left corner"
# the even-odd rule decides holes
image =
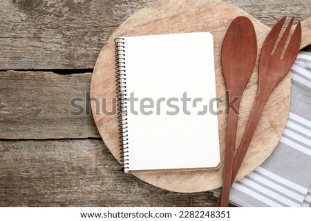
[[[274,25],[269,34],[267,34],[267,37],[263,43],[263,47],[261,48],[258,66],[258,90],[252,113],[249,116],[249,121],[243,134],[243,138],[234,158],[232,183],[236,178],[249,144],[251,143],[252,137],[254,136],[261,113],[263,112],[263,108],[267,102],[267,98],[270,96],[271,92],[274,90],[276,85],[278,85],[281,79],[289,72],[299,52],[301,44],[300,22],[296,25],[290,42],[288,43],[287,48],[285,48],[285,43],[287,42],[290,30],[292,28],[292,23],[294,22],[294,17],[290,19],[288,27],[286,28],[283,36],[281,37],[281,40],[279,41],[279,44],[274,50],[274,46],[276,45],[276,41],[279,37],[285,20],[286,17],[283,17]],[[216,202],[216,207],[219,207],[220,205],[220,196],[218,198],[218,202]]]

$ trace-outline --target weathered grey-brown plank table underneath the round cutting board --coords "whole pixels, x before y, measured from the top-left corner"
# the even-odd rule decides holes
[[[211,192],[174,193],[123,173],[89,105],[91,73],[109,35],[156,2],[0,2],[0,207],[209,207]],[[303,20],[309,0],[227,0],[272,26]],[[76,98],[84,114],[70,114]]]

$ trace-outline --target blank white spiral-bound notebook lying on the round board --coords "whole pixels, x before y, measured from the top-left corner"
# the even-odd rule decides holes
[[[121,36],[115,50],[124,171],[217,168],[212,35]]]

